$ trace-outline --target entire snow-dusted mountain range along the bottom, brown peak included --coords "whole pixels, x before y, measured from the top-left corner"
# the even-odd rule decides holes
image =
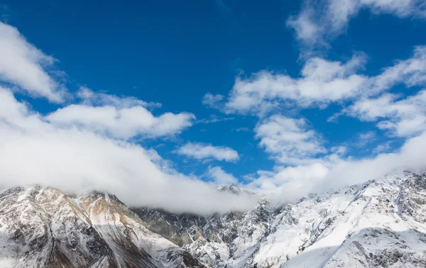
[[[237,186],[220,191],[253,194]],[[245,213],[127,208],[31,186],[0,195],[0,267],[426,267],[426,174]]]

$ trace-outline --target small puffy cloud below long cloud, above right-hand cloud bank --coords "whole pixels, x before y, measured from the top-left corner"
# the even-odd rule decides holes
[[[301,164],[311,162],[312,157],[325,153],[318,135],[309,130],[304,119],[275,115],[264,119],[254,129],[259,145],[273,155],[278,162]]]

